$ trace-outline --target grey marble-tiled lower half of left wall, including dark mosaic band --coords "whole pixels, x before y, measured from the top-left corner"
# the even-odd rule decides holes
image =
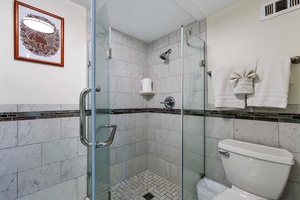
[[[76,104],[0,105],[0,199],[86,196]]]

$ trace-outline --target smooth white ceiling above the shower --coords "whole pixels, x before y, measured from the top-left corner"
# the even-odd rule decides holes
[[[71,1],[90,8],[90,0]],[[238,1],[240,0],[107,0],[106,6],[112,28],[144,42],[151,42],[179,29],[181,25],[202,20]]]

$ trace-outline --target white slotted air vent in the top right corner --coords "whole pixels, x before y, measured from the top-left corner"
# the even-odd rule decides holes
[[[300,0],[272,0],[261,5],[261,21],[282,15],[300,8]]]

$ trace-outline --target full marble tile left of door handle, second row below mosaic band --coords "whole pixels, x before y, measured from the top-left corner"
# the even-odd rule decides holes
[[[77,142],[77,138],[71,138],[43,143],[43,165],[76,157],[78,155]]]

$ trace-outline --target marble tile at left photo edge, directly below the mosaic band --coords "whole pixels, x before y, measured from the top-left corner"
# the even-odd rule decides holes
[[[17,122],[1,122],[0,138],[0,149],[17,146]]]

